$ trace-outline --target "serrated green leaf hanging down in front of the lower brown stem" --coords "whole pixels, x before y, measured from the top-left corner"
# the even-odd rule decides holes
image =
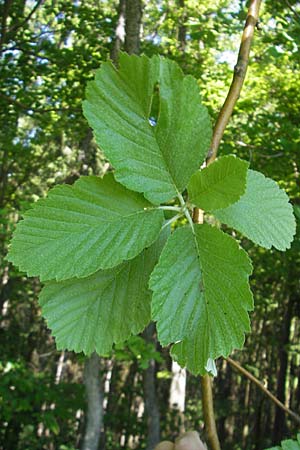
[[[244,250],[207,224],[177,229],[168,239],[151,278],[152,318],[162,345],[193,373],[205,373],[209,358],[241,348],[253,308]]]

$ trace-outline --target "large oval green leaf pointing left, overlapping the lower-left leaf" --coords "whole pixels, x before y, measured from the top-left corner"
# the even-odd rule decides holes
[[[85,277],[134,258],[157,238],[163,213],[104,178],[56,186],[19,222],[8,260],[42,281]]]

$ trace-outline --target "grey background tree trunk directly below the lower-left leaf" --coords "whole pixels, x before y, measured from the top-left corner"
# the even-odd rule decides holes
[[[82,450],[98,450],[103,427],[103,389],[100,379],[100,357],[96,353],[85,362],[84,384],[87,415]]]

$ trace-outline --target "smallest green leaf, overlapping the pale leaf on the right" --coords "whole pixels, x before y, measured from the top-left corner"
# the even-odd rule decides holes
[[[190,201],[205,211],[237,202],[245,193],[248,166],[234,155],[217,159],[192,176],[188,185]]]

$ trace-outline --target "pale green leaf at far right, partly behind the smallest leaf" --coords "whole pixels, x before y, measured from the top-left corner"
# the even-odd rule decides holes
[[[240,200],[213,211],[221,222],[235,228],[265,248],[290,248],[296,232],[292,205],[277,183],[262,173],[248,170],[247,187]]]

